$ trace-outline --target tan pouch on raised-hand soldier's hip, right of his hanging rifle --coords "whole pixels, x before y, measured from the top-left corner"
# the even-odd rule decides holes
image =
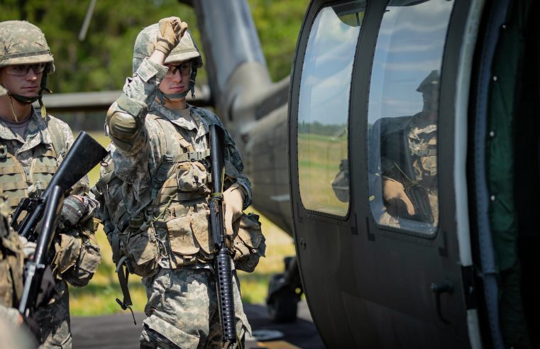
[[[260,257],[265,257],[266,250],[266,239],[260,229],[259,216],[242,214],[233,222],[233,236],[227,237],[232,240],[236,269],[253,272]]]

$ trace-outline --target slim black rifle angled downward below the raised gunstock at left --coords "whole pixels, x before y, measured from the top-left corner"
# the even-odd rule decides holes
[[[59,185],[55,185],[50,190],[48,200],[45,204],[43,224],[38,244],[35,247],[35,253],[33,258],[28,260],[24,266],[24,287],[21,301],[18,304],[18,311],[25,316],[28,316],[31,308],[35,305],[36,297],[38,297],[41,279],[43,279],[43,272],[48,264],[47,253],[50,244],[53,243],[56,224],[60,217],[63,201],[64,192]]]

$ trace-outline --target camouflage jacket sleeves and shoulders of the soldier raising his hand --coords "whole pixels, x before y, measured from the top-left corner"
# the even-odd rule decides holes
[[[219,118],[208,111],[205,111],[204,115],[199,115],[197,111],[201,109],[190,106],[184,113],[194,111],[191,113],[193,119],[187,121],[180,117],[180,113],[170,111],[155,101],[157,87],[166,72],[167,67],[144,60],[137,74],[133,78],[128,78],[123,87],[123,92],[128,99],[124,99],[122,104],[131,103],[132,105],[123,106],[123,109],[116,101],[107,113],[107,118],[117,112],[126,113],[125,109],[130,109],[136,117],[140,113],[140,123],[138,123],[138,129],[133,131],[136,135],[133,139],[125,141],[114,138],[114,135],[109,132],[116,146],[116,150],[112,153],[114,173],[125,182],[123,191],[126,194],[126,206],[133,214],[137,214],[150,202],[153,174],[158,170],[165,155],[162,150],[162,141],[167,137],[157,121],[146,117],[148,111],[145,111],[142,105],[148,105],[151,114],[167,118],[175,124],[180,129],[179,132],[182,133],[183,138],[191,143],[197,152],[204,152],[208,148],[206,135],[209,133],[208,126],[211,123],[223,127]],[[251,184],[249,179],[241,173],[243,162],[228,132],[226,132],[225,160],[226,176],[236,179],[236,182],[246,190],[247,195],[243,205],[246,209],[251,201]],[[148,170],[140,171],[140,168]]]

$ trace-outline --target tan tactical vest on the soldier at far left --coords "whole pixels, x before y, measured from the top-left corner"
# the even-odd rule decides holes
[[[53,142],[53,147],[47,148],[44,143],[36,145],[31,151],[33,160],[28,169],[24,169],[14,154],[0,139],[0,190],[4,192],[10,212],[13,212],[18,202],[28,197],[28,188],[35,185],[36,189],[45,189],[57,170],[58,154],[62,151],[62,136],[60,125],[55,118],[50,118],[47,129]],[[21,214],[21,220],[24,214]]]

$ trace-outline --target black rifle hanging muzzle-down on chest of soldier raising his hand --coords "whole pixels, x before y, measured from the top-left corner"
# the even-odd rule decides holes
[[[210,227],[214,237],[216,290],[221,323],[221,342],[236,343],[236,321],[234,317],[233,272],[231,254],[225,244],[223,182],[224,138],[223,128],[210,125],[210,156],[212,169],[212,194],[210,195]]]

